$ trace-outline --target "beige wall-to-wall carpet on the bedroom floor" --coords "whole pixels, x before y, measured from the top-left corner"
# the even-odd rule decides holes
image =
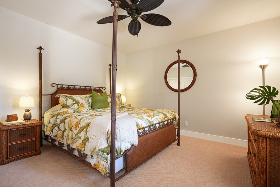
[[[116,187],[252,187],[247,148],[181,137],[116,182]],[[52,145],[0,166],[1,187],[106,187],[110,179]]]

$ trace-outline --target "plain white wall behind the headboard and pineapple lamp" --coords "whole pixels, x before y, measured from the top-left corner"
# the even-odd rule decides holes
[[[8,114],[23,118],[18,108],[21,95],[34,96],[32,118],[39,118],[39,61],[43,54],[43,94],[52,93],[52,83],[105,86],[109,93],[112,50],[66,31],[0,7],[0,120]],[[124,91],[124,53],[118,52],[118,84]],[[43,99],[45,101],[45,99]],[[43,102],[43,110],[48,106]]]

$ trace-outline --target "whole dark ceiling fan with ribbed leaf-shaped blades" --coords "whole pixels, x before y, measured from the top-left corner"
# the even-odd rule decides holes
[[[159,7],[164,2],[164,0],[130,0],[132,4],[129,4],[126,0],[119,0],[119,1],[121,2],[121,4],[119,4],[119,7],[126,10],[128,15],[119,15],[118,21],[121,21],[127,17],[131,17],[132,20],[128,24],[128,32],[133,36],[135,35],[138,36],[138,33],[141,29],[141,23],[139,22],[138,17],[140,17],[144,22],[154,26],[171,25],[171,21],[167,17],[162,16],[160,14],[141,15],[143,12],[148,12]],[[109,16],[100,19],[97,23],[103,24],[103,23],[112,23],[112,22],[113,22],[113,16]]]

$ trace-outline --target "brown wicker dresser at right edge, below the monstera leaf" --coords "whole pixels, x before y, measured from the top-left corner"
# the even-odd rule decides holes
[[[248,160],[254,187],[280,186],[280,127],[273,122],[257,122],[245,115],[248,123]]]

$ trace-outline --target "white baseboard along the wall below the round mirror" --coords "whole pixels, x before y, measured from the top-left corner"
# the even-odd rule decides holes
[[[191,132],[191,131],[180,130],[180,135],[194,137],[194,138],[201,138],[201,139],[204,139],[204,140],[217,141],[217,142],[222,142],[222,143],[227,143],[227,144],[232,144],[232,145],[237,145],[237,146],[243,146],[243,147],[248,146],[247,140],[221,137],[221,136],[204,134],[204,133],[199,133],[199,132]]]

